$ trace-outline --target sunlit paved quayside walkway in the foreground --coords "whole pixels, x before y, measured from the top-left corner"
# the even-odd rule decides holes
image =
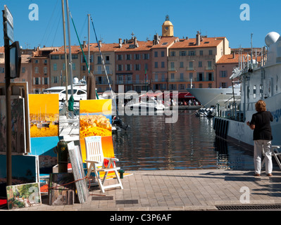
[[[134,171],[125,176],[124,189],[101,193],[90,188],[86,203],[42,205],[15,211],[166,211],[219,210],[219,205],[281,204],[281,172],[272,177],[253,176],[252,171],[227,169]],[[116,182],[115,179],[106,181]],[[249,195],[247,198],[247,191]],[[241,198],[241,200],[240,200]],[[249,200],[249,203],[243,201]],[[281,207],[280,207],[281,209]],[[2,210],[3,211],[3,210]],[[6,210],[11,211],[11,210]]]

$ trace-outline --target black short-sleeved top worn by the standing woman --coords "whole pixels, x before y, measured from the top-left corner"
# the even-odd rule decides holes
[[[251,117],[250,124],[255,125],[253,140],[271,141],[273,139],[270,121],[273,122],[273,115],[268,111],[255,113]]]

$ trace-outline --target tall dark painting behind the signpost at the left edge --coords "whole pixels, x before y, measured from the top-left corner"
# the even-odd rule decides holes
[[[25,103],[23,98],[11,99],[11,150],[13,154],[26,152]],[[0,153],[6,153],[5,98],[0,98]]]

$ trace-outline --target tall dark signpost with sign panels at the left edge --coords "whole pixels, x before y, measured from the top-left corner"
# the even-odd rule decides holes
[[[4,49],[5,49],[5,89],[6,89],[6,172],[7,186],[12,185],[12,143],[11,143],[11,78],[20,77],[20,48],[18,41],[13,41],[13,15],[4,6]],[[10,45],[10,41],[12,44]],[[11,68],[12,74],[11,74]]]

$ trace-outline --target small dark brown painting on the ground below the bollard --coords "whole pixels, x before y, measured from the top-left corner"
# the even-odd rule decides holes
[[[50,174],[49,205],[73,205],[75,182],[73,174]]]

